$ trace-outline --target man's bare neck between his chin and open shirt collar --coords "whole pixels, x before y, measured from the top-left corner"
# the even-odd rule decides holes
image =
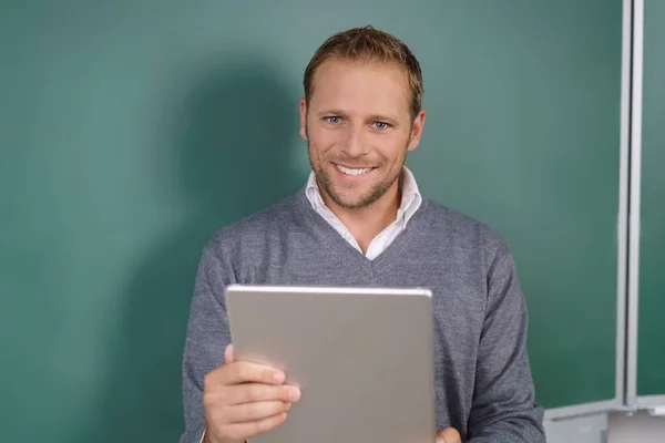
[[[358,209],[342,208],[323,193],[324,203],[356,238],[362,254],[367,253],[371,240],[397,218],[397,210],[401,203],[402,182],[403,177],[400,176],[381,198]]]

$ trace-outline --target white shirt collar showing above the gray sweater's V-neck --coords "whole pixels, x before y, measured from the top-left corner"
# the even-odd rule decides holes
[[[397,210],[397,218],[379,235],[377,235],[367,248],[366,257],[374,260],[379,256],[386,248],[397,238],[397,236],[407,227],[407,223],[413,216],[416,210],[422,203],[422,196],[418,190],[418,184],[413,174],[405,166],[403,167],[405,181],[402,186],[401,205]],[[326,222],[328,222],[352,247],[362,254],[362,249],[358,241],[348,228],[337,218],[335,214],[326,206],[324,198],[321,197],[320,190],[316,183],[314,172],[309,174],[307,187],[305,189],[307,199],[311,204],[314,210],[316,210]]]

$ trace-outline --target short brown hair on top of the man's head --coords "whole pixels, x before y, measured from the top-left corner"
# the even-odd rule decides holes
[[[382,63],[397,63],[407,76],[411,92],[411,117],[416,119],[422,106],[422,72],[418,60],[411,50],[396,37],[379,31],[370,25],[351,28],[330,35],[315,52],[305,69],[304,86],[305,100],[309,103],[314,93],[314,74],[316,69],[330,58],[340,58],[352,61],[378,61]]]

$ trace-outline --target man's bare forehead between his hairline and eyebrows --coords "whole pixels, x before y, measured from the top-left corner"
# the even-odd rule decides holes
[[[408,114],[409,96],[407,75],[397,63],[331,58],[314,74],[310,106]]]

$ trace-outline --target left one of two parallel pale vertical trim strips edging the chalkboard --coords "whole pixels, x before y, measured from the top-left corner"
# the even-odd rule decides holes
[[[616,251],[616,384],[615,396],[625,402],[626,389],[626,269],[628,247],[628,167],[631,136],[631,52],[633,0],[623,0],[621,55],[621,135],[618,158],[618,226]]]

